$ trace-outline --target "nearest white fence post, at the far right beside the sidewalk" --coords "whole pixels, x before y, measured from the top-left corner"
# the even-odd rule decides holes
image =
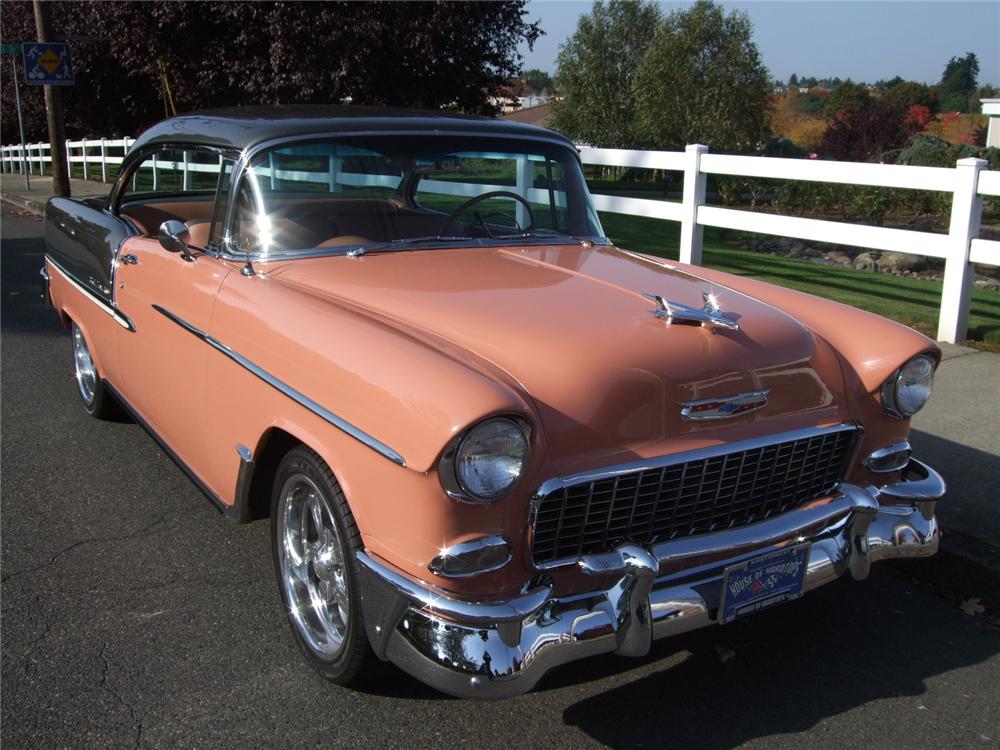
[[[948,257],[944,262],[941,288],[941,311],[938,314],[938,341],[955,344],[965,339],[969,327],[969,303],[975,266],[969,262],[972,239],[979,234],[983,214],[983,199],[976,192],[979,173],[986,168],[985,159],[959,159],[955,165],[956,185],[951,201],[951,223],[948,227]]]

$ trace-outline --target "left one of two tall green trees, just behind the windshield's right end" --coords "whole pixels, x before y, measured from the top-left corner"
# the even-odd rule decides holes
[[[551,126],[593,146],[635,147],[632,78],[659,21],[650,2],[595,2],[556,58],[562,98],[553,103]]]

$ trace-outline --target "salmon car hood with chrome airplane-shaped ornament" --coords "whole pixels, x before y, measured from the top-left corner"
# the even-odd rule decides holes
[[[849,419],[840,367],[821,340],[695,271],[612,247],[560,245],[302,259],[269,277],[497,368],[533,400],[560,471]],[[643,296],[700,309],[705,292],[738,331],[668,324]],[[760,390],[768,402],[757,411],[681,415],[686,401]]]

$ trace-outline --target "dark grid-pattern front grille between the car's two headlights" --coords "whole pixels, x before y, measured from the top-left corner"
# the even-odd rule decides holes
[[[777,442],[755,441],[742,450],[722,446],[634,471],[570,478],[547,492],[543,486],[535,500],[534,561],[745,526],[791,510],[834,490],[857,432],[842,426],[776,436]]]

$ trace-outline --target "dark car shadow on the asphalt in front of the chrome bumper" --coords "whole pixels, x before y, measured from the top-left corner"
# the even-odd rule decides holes
[[[637,670],[642,676],[569,706],[564,721],[609,747],[731,748],[803,732],[872,702],[925,710],[926,680],[998,652],[1000,633],[988,624],[895,571],[875,570],[865,583],[839,582],[742,622],[654,644],[653,658],[672,654],[667,668]],[[574,664],[546,687],[586,679],[591,669]]]

